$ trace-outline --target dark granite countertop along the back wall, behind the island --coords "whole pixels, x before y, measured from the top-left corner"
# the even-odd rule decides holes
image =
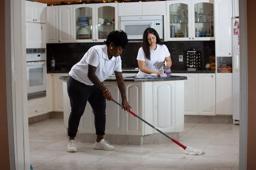
[[[138,73],[138,70],[123,70],[122,73]],[[67,70],[63,71],[47,71],[47,74],[50,73],[69,73]],[[187,70],[172,70],[172,73],[215,73],[215,70],[197,70],[197,71],[187,71]]]

